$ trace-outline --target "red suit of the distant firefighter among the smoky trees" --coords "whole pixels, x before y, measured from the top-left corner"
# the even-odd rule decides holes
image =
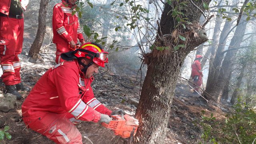
[[[196,86],[193,86],[193,88],[198,91],[199,88],[197,86],[201,86],[202,84],[202,71],[201,71],[201,62],[199,62],[199,60],[195,60],[192,65],[192,73],[191,73],[191,77],[194,80],[195,76],[198,76],[197,80],[194,80],[194,84],[196,84]]]

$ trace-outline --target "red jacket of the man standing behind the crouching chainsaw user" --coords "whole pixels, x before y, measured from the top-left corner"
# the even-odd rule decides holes
[[[72,15],[72,11],[76,6],[68,5],[64,0],[58,3],[53,8],[52,15],[52,30],[54,43],[66,43],[74,40],[77,43],[77,38],[82,42],[84,37],[80,29],[77,14]]]

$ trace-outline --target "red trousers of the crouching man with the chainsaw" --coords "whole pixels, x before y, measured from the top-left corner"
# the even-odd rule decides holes
[[[57,144],[82,144],[82,135],[66,114],[48,113],[40,118],[24,120],[28,128],[38,132]],[[23,118],[24,119],[24,118]]]

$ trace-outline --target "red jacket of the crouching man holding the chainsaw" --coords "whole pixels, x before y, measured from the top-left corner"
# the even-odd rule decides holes
[[[23,117],[40,117],[49,112],[69,112],[78,120],[98,122],[100,113],[111,114],[95,97],[77,60],[50,68],[36,83],[22,104]]]

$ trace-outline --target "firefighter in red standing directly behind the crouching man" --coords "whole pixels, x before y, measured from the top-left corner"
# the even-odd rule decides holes
[[[77,14],[72,15],[76,9],[76,0],[62,0],[53,8],[52,30],[53,42],[56,44],[56,59],[59,64],[64,60],[60,54],[69,52],[76,46],[77,39],[84,44],[84,37],[80,29]],[[71,47],[71,48],[70,48]]]

